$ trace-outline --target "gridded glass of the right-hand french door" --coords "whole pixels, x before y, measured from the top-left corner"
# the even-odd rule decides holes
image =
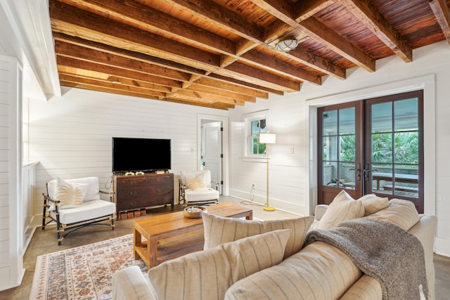
[[[420,91],[367,100],[366,193],[420,197],[420,101]]]

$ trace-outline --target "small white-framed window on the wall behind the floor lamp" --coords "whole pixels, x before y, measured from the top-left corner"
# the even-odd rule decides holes
[[[266,157],[266,144],[259,143],[259,133],[266,133],[269,123],[269,111],[254,112],[244,116],[245,157]]]

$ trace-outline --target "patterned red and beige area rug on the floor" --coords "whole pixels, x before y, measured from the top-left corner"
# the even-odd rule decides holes
[[[40,255],[30,299],[112,299],[112,275],[128,266],[147,270],[133,258],[132,234]]]

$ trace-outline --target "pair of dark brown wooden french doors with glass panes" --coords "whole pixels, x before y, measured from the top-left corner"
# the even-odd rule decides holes
[[[318,133],[319,204],[345,189],[423,212],[423,91],[321,107]]]

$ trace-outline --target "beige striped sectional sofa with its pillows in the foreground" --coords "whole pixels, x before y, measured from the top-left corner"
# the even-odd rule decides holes
[[[321,240],[305,242],[314,233],[335,233],[342,224],[368,219],[399,226],[403,230],[397,231],[417,237],[409,240],[420,241],[424,263],[414,264],[423,265],[426,278],[408,299],[435,299],[432,256],[437,219],[419,215],[412,202],[375,195],[353,200],[342,191],[330,206],[316,207],[314,220],[245,221],[208,214],[203,219],[203,251],[162,263],[146,275],[137,267],[117,271],[113,299],[383,299],[383,280],[361,272],[352,255]],[[311,230],[316,231],[307,235]],[[371,248],[378,256],[377,245]],[[383,254],[380,257],[385,260]],[[405,281],[412,278],[411,273],[403,275]]]

